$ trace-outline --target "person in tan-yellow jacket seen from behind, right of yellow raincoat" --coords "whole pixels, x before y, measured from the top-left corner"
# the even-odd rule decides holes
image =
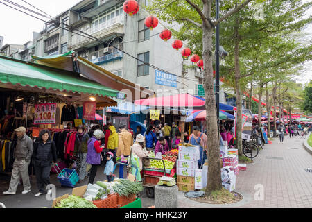
[[[125,125],[119,126],[120,133],[119,145],[117,148],[117,157],[129,157],[131,153],[131,146],[133,145],[132,134],[125,129]],[[119,165],[119,178],[123,178],[123,164]]]

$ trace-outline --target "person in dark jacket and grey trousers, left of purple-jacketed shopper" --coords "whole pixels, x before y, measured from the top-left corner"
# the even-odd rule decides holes
[[[83,125],[77,127],[78,133],[76,134],[75,148],[73,150],[73,156],[78,157],[80,163],[77,168],[79,169],[79,180],[81,182],[85,180],[85,173],[87,169],[87,153],[88,145],[87,142],[90,139],[89,134],[86,133]]]

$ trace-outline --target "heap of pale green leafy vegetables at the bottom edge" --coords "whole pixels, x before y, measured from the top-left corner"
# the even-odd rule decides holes
[[[60,200],[54,208],[97,208],[91,201],[79,196],[69,195],[68,198]]]

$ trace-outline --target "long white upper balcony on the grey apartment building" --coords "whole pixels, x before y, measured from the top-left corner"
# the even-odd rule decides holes
[[[83,32],[94,37],[101,38],[105,35],[110,34],[110,31],[114,30],[115,28],[119,28],[120,26],[123,26],[123,15],[114,17],[113,19],[103,22],[98,26],[94,26]],[[76,31],[76,33],[78,33],[78,31]],[[81,35],[84,34],[81,33]],[[95,40],[92,40],[89,37],[83,37],[81,35],[73,35],[71,41],[71,49],[77,49],[79,47],[87,46],[88,44],[92,44],[92,42],[95,42]]]

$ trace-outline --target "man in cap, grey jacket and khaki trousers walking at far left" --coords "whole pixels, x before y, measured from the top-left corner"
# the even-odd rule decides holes
[[[31,191],[31,182],[29,181],[28,165],[33,155],[33,141],[26,135],[26,128],[23,126],[14,130],[17,135],[17,145],[15,148],[15,161],[13,164],[10,187],[3,194],[15,194],[19,185],[19,176],[23,180],[24,191],[21,194],[27,194]]]

